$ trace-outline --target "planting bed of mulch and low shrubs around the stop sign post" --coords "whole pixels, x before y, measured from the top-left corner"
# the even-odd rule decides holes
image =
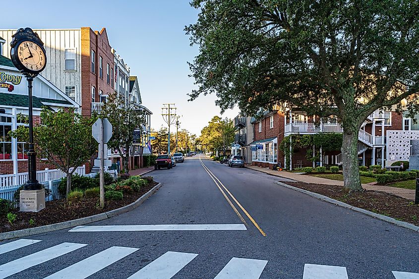
[[[62,199],[46,202],[46,208],[40,212],[19,212],[18,208],[7,210],[9,218],[16,215],[12,223],[7,219],[7,213],[2,212],[0,208],[0,232],[60,223],[129,205],[158,184],[150,176],[144,178],[131,176],[126,180],[105,186],[107,198],[105,198],[105,207],[103,209],[99,207],[99,191],[97,187],[74,190],[70,193],[69,201]],[[109,195],[108,193],[112,194]],[[119,199],[120,197],[122,199]]]

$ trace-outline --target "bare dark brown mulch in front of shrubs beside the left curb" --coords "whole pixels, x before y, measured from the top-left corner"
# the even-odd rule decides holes
[[[10,224],[6,217],[0,219],[0,232],[60,223],[114,210],[135,202],[157,184],[158,182],[154,181],[142,187],[140,192],[124,194],[123,200],[120,201],[106,200],[103,209],[99,207],[99,198],[84,198],[81,202],[70,204],[65,200],[46,202],[45,209],[40,212],[19,212],[16,208],[13,213],[17,214],[17,217],[13,224]],[[35,221],[33,225],[29,224],[31,218]]]

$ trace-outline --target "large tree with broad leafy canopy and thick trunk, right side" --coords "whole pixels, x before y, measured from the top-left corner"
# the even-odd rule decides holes
[[[419,95],[417,0],[193,0],[185,28],[199,85],[222,111],[275,105],[342,121],[344,185],[361,191],[358,131],[377,109]],[[418,102],[408,102],[413,115]]]

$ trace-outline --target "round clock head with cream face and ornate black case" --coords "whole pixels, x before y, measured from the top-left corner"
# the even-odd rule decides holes
[[[44,43],[31,28],[20,28],[12,35],[10,56],[15,67],[25,76],[35,77],[45,69],[47,56]]]

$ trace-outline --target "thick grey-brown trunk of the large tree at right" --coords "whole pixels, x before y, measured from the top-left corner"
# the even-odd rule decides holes
[[[344,187],[349,192],[363,191],[359,178],[358,167],[358,133],[343,133],[342,141],[342,168]]]

